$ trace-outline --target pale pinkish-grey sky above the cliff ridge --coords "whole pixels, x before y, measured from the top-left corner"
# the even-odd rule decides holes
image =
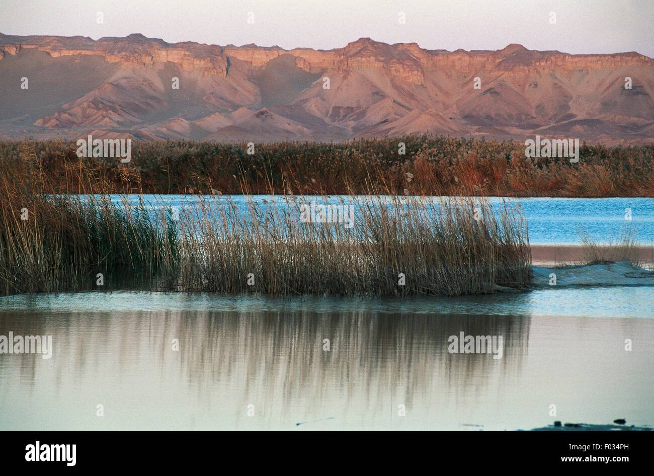
[[[7,35],[143,33],[167,42],[286,49],[340,48],[370,37],[428,49],[498,50],[519,43],[530,50],[637,51],[654,58],[654,0],[1,1],[0,33]]]

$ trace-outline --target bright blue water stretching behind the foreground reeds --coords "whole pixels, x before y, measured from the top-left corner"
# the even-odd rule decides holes
[[[185,207],[192,209],[198,205],[196,196],[145,195],[144,199],[155,207]],[[297,197],[294,202],[310,203],[341,203],[344,197],[331,196],[328,199],[320,196]],[[365,200],[366,197],[361,197]],[[114,201],[124,200],[124,196],[112,196]],[[215,205],[233,201],[239,210],[245,211],[247,199],[245,196],[204,197]],[[262,207],[277,203],[279,207],[287,207],[283,198],[277,196],[252,196],[250,199]],[[438,198],[435,198],[438,199]],[[135,202],[139,196],[132,195],[128,201]],[[267,204],[264,204],[264,200]],[[347,200],[347,198],[346,198]],[[502,198],[490,197],[489,203],[498,210],[504,201],[511,207],[521,207],[526,217],[529,239],[532,245],[574,245],[579,244],[579,233],[585,233],[595,241],[608,243],[619,239],[625,226],[632,225],[636,237],[643,245],[654,243],[654,199],[652,198]],[[347,202],[346,202],[347,203]],[[630,209],[631,220],[625,220],[625,214]],[[356,215],[355,215],[356,220]]]

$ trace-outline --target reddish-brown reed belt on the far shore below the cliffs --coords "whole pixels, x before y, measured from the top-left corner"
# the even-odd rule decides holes
[[[404,154],[400,154],[404,144]],[[18,160],[29,146],[52,180],[65,184],[61,163],[75,161],[73,141],[0,141],[0,157]],[[343,143],[245,143],[133,141],[131,167],[141,190],[152,194],[240,194],[247,179],[252,193],[271,188],[283,194],[366,194],[369,170],[390,194],[515,197],[654,197],[654,145],[604,146],[582,143],[579,162],[526,158],[521,141],[406,135]],[[128,192],[124,170],[114,160],[84,159],[118,192]],[[269,171],[264,177],[262,171]],[[413,177],[407,182],[407,174]],[[82,183],[84,186],[84,183]]]

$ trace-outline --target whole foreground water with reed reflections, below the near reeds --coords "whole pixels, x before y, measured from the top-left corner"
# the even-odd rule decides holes
[[[0,430],[653,425],[653,296],[647,287],[402,300],[15,296],[0,301],[0,335],[49,334],[54,350],[49,360],[0,355]],[[459,332],[504,336],[503,358],[450,354]]]

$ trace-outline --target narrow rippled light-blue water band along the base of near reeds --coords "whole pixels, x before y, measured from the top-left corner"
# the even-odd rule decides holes
[[[272,298],[249,294],[183,294],[165,292],[80,292],[20,294],[0,298],[0,313],[119,313],[203,312],[240,313],[366,313],[396,315],[486,315],[562,318],[653,319],[650,286],[582,286],[504,292],[479,296],[429,296],[428,298],[327,298],[294,296]],[[583,304],[581,304],[583,303]]]

